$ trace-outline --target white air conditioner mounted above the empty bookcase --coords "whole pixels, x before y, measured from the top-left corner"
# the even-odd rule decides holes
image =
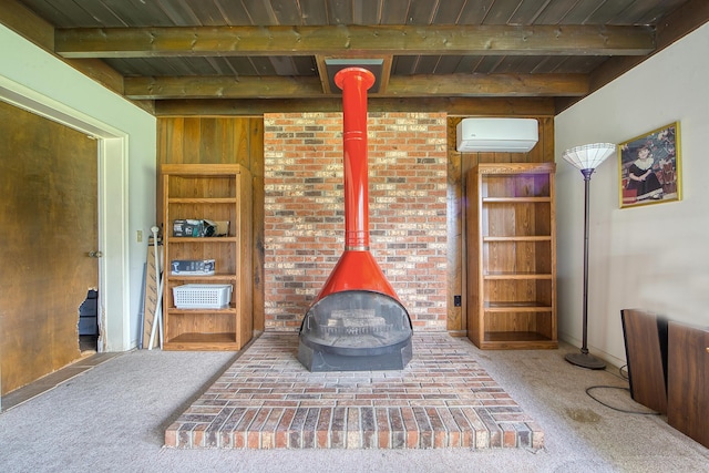
[[[463,119],[456,131],[461,153],[526,153],[540,138],[535,119]]]

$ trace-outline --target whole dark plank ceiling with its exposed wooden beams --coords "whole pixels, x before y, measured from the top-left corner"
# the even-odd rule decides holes
[[[706,0],[0,2],[0,22],[157,115],[339,110],[341,60],[381,65],[370,110],[554,114],[708,19]]]

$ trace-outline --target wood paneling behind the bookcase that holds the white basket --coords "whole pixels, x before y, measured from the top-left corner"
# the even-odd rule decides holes
[[[253,177],[254,330],[264,330],[264,119],[164,116],[157,119],[157,164],[240,164]],[[163,228],[157,179],[157,219]]]

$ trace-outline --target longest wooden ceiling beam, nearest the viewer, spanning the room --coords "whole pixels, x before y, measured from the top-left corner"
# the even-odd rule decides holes
[[[646,55],[651,27],[333,25],[56,29],[64,58],[210,55]]]

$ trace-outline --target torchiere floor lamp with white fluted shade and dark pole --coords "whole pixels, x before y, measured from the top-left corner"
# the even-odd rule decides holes
[[[566,150],[563,158],[580,169],[585,184],[585,209],[584,209],[584,311],[583,311],[583,345],[579,353],[566,354],[566,361],[577,367],[590,370],[603,370],[606,363],[588,353],[588,189],[590,186],[590,175],[608,156],[616,151],[616,145],[612,143],[594,143],[576,146]]]

